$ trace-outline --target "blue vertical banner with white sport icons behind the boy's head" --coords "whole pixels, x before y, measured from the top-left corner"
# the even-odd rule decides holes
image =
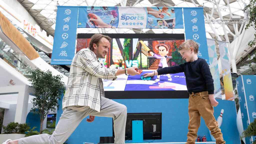
[[[205,59],[210,64],[203,8],[186,7],[183,8],[183,14],[186,39],[192,39],[198,44],[198,57]]]

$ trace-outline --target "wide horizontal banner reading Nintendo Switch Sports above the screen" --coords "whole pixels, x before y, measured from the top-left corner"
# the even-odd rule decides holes
[[[183,28],[182,8],[79,7],[79,28]]]

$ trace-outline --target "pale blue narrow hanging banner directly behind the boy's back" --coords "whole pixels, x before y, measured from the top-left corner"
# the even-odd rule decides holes
[[[207,39],[210,71],[212,78],[214,79],[214,97],[222,99],[221,86],[220,86],[220,74],[218,68],[218,56],[216,53],[216,46],[214,39]]]

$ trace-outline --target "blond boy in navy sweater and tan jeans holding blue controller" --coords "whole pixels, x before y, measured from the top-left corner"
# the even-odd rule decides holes
[[[146,73],[144,77],[184,72],[189,92],[187,144],[195,144],[201,116],[212,136],[216,139],[216,144],[226,143],[213,115],[213,106],[216,107],[218,102],[214,98],[214,84],[208,64],[205,59],[197,57],[198,45],[194,40],[186,40],[179,46],[178,51],[186,60],[184,64]]]

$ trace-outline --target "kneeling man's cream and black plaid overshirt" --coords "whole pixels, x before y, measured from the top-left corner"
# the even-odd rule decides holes
[[[68,106],[89,106],[101,110],[101,97],[105,97],[103,79],[113,79],[117,69],[102,66],[89,49],[81,49],[73,58],[62,109]]]

